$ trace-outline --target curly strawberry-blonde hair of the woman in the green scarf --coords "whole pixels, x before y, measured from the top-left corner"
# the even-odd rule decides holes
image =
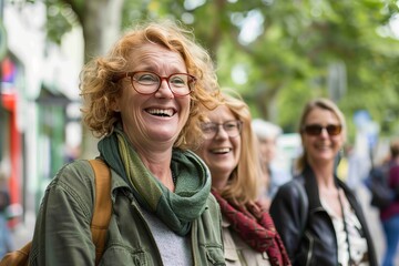
[[[182,55],[187,72],[196,78],[190,94],[191,110],[174,146],[186,149],[186,136],[201,139],[197,120],[201,120],[200,104],[214,109],[218,104],[218,84],[213,61],[205,49],[197,44],[193,33],[170,20],[149,21],[126,31],[105,57],[99,57],[84,65],[80,74],[80,90],[83,99],[83,121],[98,137],[112,133],[121,115],[113,104],[121,96],[122,85],[113,76],[129,71],[129,58],[146,43],[160,44]]]

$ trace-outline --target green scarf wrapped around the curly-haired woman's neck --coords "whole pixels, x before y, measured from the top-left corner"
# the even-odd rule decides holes
[[[185,236],[190,232],[192,222],[204,212],[211,192],[211,176],[202,160],[191,151],[173,150],[171,168],[177,180],[173,193],[146,168],[120,129],[99,142],[99,151],[131,185],[143,207],[176,234]]]

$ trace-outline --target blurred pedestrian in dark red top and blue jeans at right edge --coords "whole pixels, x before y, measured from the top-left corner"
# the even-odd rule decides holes
[[[399,137],[390,143],[390,160],[388,164],[388,187],[393,192],[393,201],[380,209],[386,238],[386,253],[382,266],[393,266],[398,255],[399,244]]]

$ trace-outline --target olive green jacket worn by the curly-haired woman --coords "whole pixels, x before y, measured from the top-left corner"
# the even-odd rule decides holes
[[[127,183],[112,171],[111,216],[100,265],[163,265],[149,224]],[[94,265],[90,223],[93,170],[88,161],[66,164],[49,184],[38,214],[31,266]],[[219,207],[212,194],[191,229],[193,265],[225,265]],[[201,233],[201,234],[200,234]]]

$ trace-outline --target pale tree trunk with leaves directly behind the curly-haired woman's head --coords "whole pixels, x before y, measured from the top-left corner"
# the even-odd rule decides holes
[[[47,32],[60,43],[65,32],[82,27],[84,62],[104,54],[121,30],[124,0],[44,0],[48,8]],[[96,141],[83,127],[83,157],[93,157]]]

